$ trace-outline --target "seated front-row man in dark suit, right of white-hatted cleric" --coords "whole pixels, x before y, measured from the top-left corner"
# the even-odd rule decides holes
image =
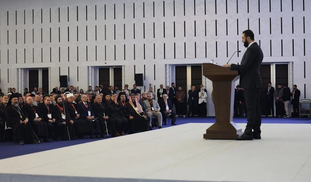
[[[91,104],[86,102],[87,96],[85,94],[82,94],[81,100],[82,100],[82,102],[78,104],[78,107],[80,107],[80,109],[81,109],[80,117],[82,119],[85,119],[87,121],[87,123],[89,124],[90,137],[95,138],[95,136],[94,136],[94,129],[95,129],[96,138],[100,138],[99,120],[98,119],[94,120],[95,113],[94,113],[94,110],[93,110]]]

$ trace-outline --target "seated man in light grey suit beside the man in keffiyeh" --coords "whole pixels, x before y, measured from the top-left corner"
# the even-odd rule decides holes
[[[152,94],[147,93],[147,100],[144,101],[146,107],[146,115],[149,117],[149,130],[152,130],[151,121],[152,117],[158,118],[158,127],[162,128],[162,114],[160,112],[159,103],[152,99]]]

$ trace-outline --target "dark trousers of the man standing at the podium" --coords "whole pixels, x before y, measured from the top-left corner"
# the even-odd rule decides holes
[[[251,135],[252,130],[260,134],[261,106],[260,89],[244,89],[244,98],[247,108],[247,125],[244,133]]]

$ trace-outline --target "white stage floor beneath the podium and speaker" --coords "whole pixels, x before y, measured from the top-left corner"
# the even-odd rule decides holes
[[[2,159],[0,181],[310,181],[311,124],[262,124],[262,139],[253,141],[205,140],[210,125]]]

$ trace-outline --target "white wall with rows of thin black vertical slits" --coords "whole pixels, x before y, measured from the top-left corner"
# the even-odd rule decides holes
[[[88,66],[114,65],[124,66],[126,84],[134,84],[135,65],[145,85],[170,85],[165,64],[224,64],[241,50],[231,59],[239,63],[249,28],[264,62],[293,62],[293,82],[310,98],[310,7],[306,0],[1,0],[0,86],[21,90],[18,68],[50,67],[52,88],[69,74],[69,85],[86,89]]]

